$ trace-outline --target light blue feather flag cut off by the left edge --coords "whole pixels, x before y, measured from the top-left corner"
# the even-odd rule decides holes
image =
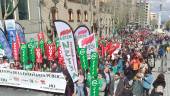
[[[12,58],[12,50],[8,44],[8,41],[5,37],[2,29],[0,29],[0,44],[2,45],[3,49],[5,50],[5,55],[8,58]]]

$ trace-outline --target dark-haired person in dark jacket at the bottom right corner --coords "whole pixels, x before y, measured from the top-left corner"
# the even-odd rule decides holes
[[[165,86],[166,86],[165,76],[164,74],[160,73],[153,83],[154,88],[150,96],[163,96]]]

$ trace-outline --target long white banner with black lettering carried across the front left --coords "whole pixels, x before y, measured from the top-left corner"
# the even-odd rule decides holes
[[[0,85],[65,93],[66,80],[62,73],[0,68]]]

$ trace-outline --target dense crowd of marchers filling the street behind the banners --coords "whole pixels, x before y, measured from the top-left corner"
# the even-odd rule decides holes
[[[150,39],[149,37],[152,38]],[[138,41],[135,38],[140,39]],[[160,73],[155,79],[152,70],[155,67],[155,61],[166,57],[166,53],[170,51],[168,43],[162,44],[166,40],[169,40],[169,37],[154,34],[131,34],[128,38],[122,40],[121,43],[117,39],[103,39],[104,43],[115,44],[119,42],[121,48],[112,54],[105,52],[104,56],[102,56],[101,47],[99,46],[98,48],[99,96],[163,96],[163,90],[166,86],[164,74]],[[103,42],[102,40],[99,41]],[[1,55],[4,54],[0,54],[0,64],[7,63],[7,58]],[[73,83],[66,66],[64,64],[59,65],[56,62],[57,59],[56,61],[45,63],[52,65],[52,67],[49,67],[51,72],[62,71],[66,76],[65,95],[90,96],[90,70],[83,72],[79,62],[79,79],[76,83]],[[15,66],[10,67],[15,69]],[[36,69],[34,71],[38,71]],[[40,70],[45,72],[47,67],[42,67]]]

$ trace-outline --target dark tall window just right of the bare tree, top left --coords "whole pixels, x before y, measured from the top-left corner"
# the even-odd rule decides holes
[[[29,19],[28,0],[20,0],[18,3],[19,20]]]

